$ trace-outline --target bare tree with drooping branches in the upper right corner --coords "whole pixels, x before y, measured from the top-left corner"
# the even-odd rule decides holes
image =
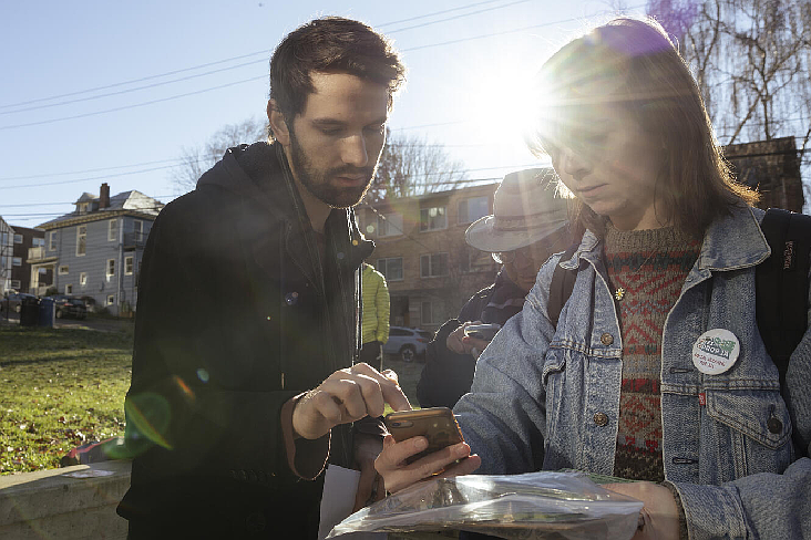
[[[723,144],[811,136],[808,0],[649,0],[680,42]]]

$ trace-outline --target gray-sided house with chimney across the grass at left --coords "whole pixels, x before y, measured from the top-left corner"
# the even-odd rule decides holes
[[[163,204],[140,191],[113,197],[102,184],[99,196],[82,194],[75,210],[40,225],[44,246],[29,249],[30,290],[42,294],[49,287],[60,293],[92,298],[96,308],[127,314],[137,302],[141,258],[155,217]],[[52,283],[40,283],[52,270]]]

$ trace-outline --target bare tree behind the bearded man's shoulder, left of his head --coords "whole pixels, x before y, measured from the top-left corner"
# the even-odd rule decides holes
[[[255,117],[238,124],[227,124],[201,145],[184,147],[181,152],[181,164],[172,170],[172,181],[181,193],[191,191],[199,177],[219,160],[225,150],[243,143],[255,143],[267,137],[267,123]]]

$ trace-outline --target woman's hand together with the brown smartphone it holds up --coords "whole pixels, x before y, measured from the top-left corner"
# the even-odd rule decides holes
[[[399,491],[435,475],[468,475],[481,465],[445,407],[392,413],[387,416],[387,426],[392,435],[386,436],[383,451],[374,461],[387,491]]]

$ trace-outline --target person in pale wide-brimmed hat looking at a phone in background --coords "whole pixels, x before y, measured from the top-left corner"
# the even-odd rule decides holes
[[[532,168],[504,177],[495,190],[493,215],[471,224],[464,236],[470,246],[492,253],[503,267],[495,282],[473,294],[459,318],[445,322],[428,345],[417,385],[422,407],[453,407],[470,391],[476,356],[486,342],[465,336],[465,326],[504,324],[521,311],[541,266],[572,241],[567,207],[552,169]]]

